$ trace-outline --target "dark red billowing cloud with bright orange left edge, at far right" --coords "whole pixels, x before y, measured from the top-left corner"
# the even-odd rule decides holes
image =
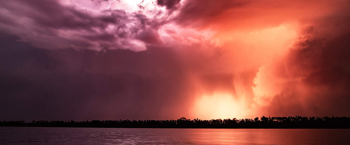
[[[341,116],[348,112],[350,35],[315,33],[296,42],[286,57],[259,68],[253,80],[254,101],[266,105],[270,115]]]

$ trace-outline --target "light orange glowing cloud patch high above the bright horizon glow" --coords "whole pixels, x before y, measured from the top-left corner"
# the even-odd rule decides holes
[[[292,24],[283,24],[254,31],[221,32],[216,37],[226,52],[232,53],[225,59],[233,60],[236,69],[256,68],[285,55],[298,36],[296,29]]]

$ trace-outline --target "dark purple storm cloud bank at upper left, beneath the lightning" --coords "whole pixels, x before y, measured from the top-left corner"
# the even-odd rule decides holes
[[[151,20],[138,13],[105,9],[98,13],[57,1],[0,2],[0,28],[40,48],[146,49],[159,44]],[[146,41],[145,37],[148,37]],[[154,40],[149,40],[154,39]]]

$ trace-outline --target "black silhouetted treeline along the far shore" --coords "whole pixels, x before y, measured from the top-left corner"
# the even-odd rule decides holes
[[[349,129],[350,117],[265,117],[254,119],[92,120],[92,121],[0,121],[0,126],[105,127],[105,128],[270,128]]]

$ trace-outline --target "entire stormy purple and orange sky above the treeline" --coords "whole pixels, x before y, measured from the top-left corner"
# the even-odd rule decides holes
[[[0,120],[350,116],[349,4],[0,1]]]

